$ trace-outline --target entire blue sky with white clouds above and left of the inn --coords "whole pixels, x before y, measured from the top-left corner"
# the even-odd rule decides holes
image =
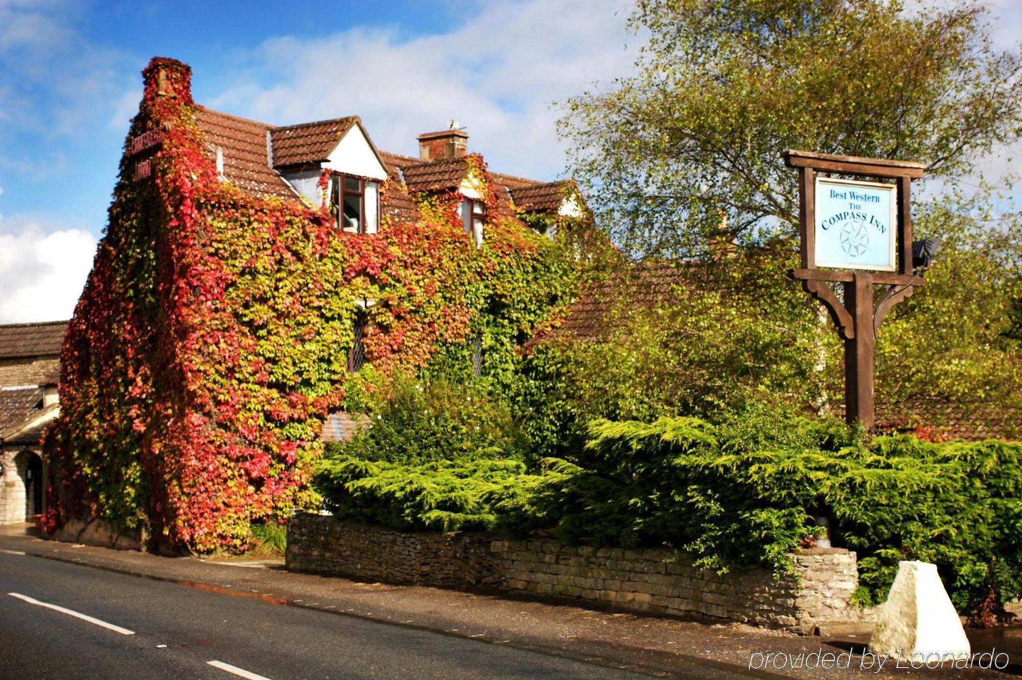
[[[71,315],[150,57],[189,63],[213,108],[278,125],[359,114],[377,146],[413,155],[416,135],[457,118],[495,169],[553,179],[551,102],[631,69],[631,4],[0,0],[0,323]],[[991,12],[994,39],[1017,41],[1022,2]]]

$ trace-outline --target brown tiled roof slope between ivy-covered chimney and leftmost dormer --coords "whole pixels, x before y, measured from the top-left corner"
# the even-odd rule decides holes
[[[271,126],[208,108],[199,108],[195,117],[205,133],[206,153],[216,158],[217,147],[222,149],[228,182],[256,196],[296,197],[268,163],[266,136]]]

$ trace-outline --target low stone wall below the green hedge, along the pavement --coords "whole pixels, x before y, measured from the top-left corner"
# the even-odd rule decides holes
[[[373,581],[483,589],[573,600],[628,612],[735,621],[809,633],[857,621],[855,553],[814,548],[795,555],[799,577],[761,569],[718,575],[685,553],[509,540],[483,532],[402,533],[298,514],[287,529],[287,567]]]

